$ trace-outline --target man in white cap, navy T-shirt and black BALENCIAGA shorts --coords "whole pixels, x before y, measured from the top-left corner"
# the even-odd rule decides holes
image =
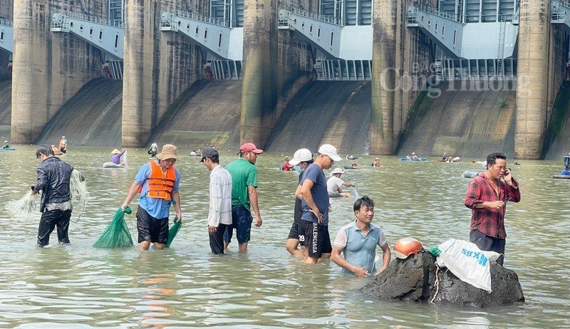
[[[341,161],[336,147],[323,144],[318,148],[318,155],[313,164],[305,169],[295,197],[301,199],[303,216],[301,230],[308,248],[305,263],[314,264],[318,258],[328,258],[333,250],[331,237],[328,235],[328,192],[326,175],[323,169],[330,169],[335,161]]]

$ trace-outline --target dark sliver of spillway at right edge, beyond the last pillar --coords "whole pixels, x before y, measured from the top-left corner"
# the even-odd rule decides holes
[[[561,160],[570,151],[570,82],[565,81],[558,92],[546,136],[542,158]]]

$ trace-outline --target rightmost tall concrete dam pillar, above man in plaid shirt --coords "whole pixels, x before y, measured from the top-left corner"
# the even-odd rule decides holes
[[[521,0],[514,157],[540,159],[548,108],[550,0]]]

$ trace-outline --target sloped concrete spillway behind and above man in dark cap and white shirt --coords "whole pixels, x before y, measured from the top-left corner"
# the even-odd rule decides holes
[[[175,100],[148,141],[180,148],[239,148],[242,81],[199,80]]]

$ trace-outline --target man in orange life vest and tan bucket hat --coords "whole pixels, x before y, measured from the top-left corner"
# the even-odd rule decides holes
[[[157,160],[142,164],[135,182],[130,186],[127,199],[121,205],[125,209],[137,193],[140,193],[137,210],[137,230],[140,250],[146,251],[150,244],[155,249],[164,249],[168,241],[168,217],[170,204],[178,219],[182,220],[180,209],[180,173],[174,167],[178,157],[174,145],[164,145],[162,152],[156,155]]]

